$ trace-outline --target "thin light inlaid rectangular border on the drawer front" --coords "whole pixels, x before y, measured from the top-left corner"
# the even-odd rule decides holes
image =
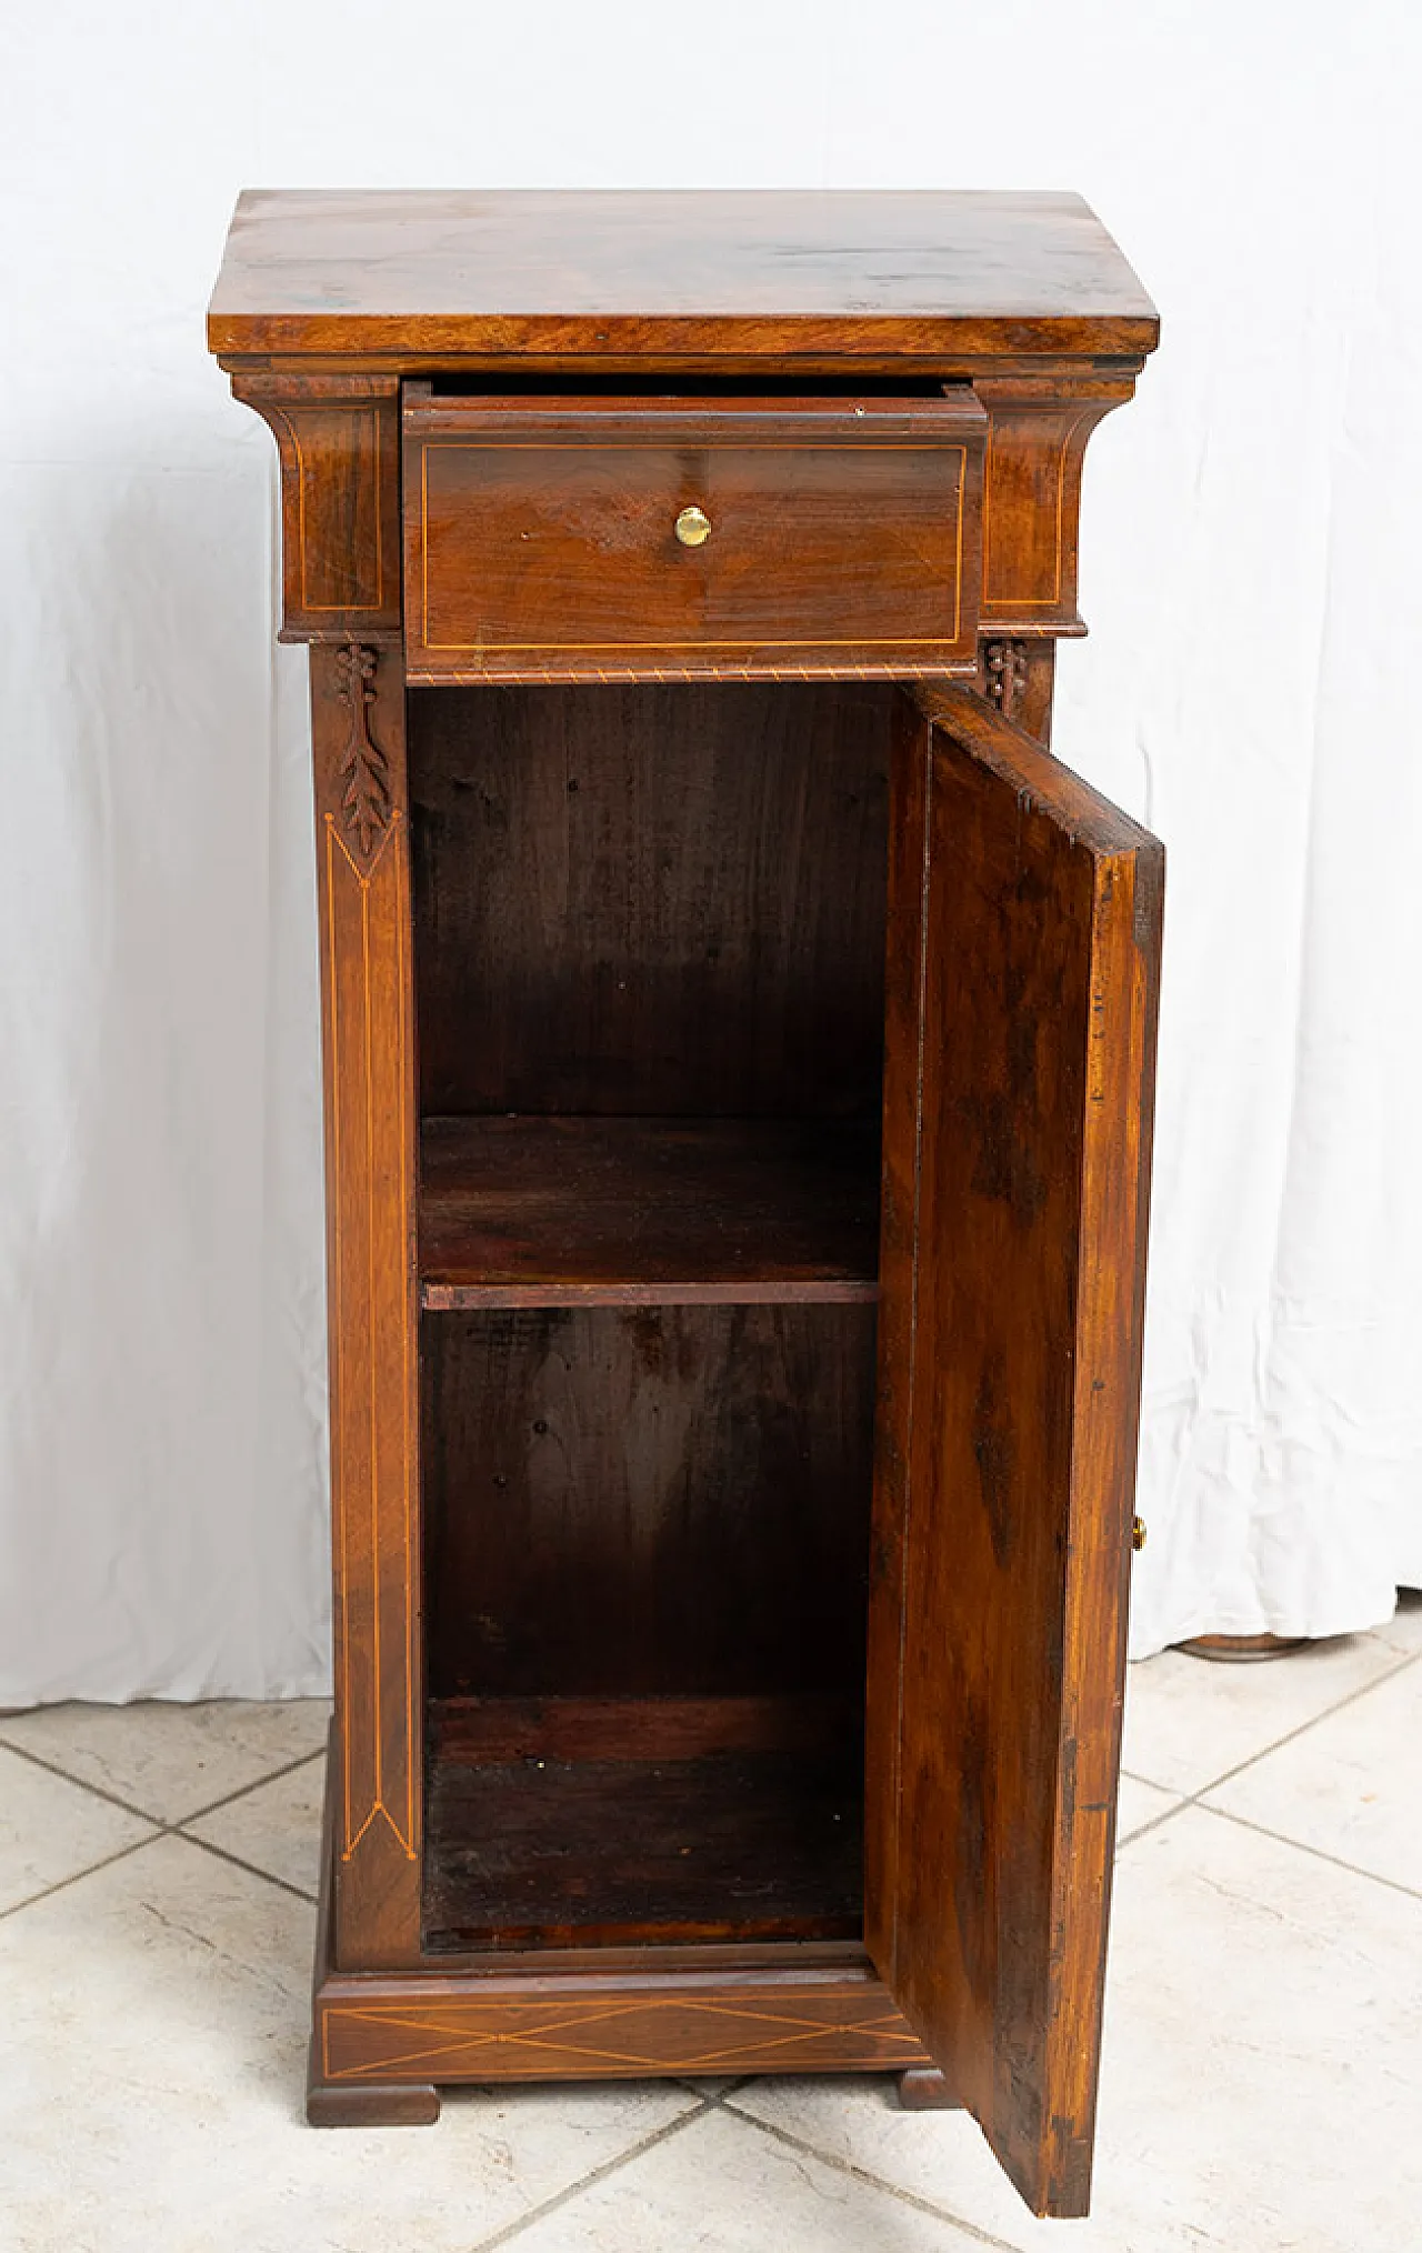
[[[478,642],[433,642],[430,640],[430,534],[428,534],[428,514],[430,514],[430,509],[428,509],[428,498],[430,498],[428,460],[430,460],[430,453],[588,453],[588,451],[597,451],[597,453],[649,453],[651,444],[649,444],[649,439],[608,439],[608,437],[602,437],[602,435],[595,437],[595,439],[505,439],[505,437],[489,437],[489,439],[424,439],[421,442],[421,448],[419,448],[419,550],[421,550],[421,554],[419,554],[419,561],[421,561],[421,588],[419,588],[419,595],[421,595],[421,642],[424,642],[426,649],[442,649],[442,651],[446,651],[451,656],[473,653],[473,651],[478,651],[478,653],[507,653],[507,656],[516,656],[516,653],[536,651],[536,649],[550,649],[550,651],[557,649],[557,651],[566,651],[568,656],[577,656],[577,653],[593,656],[597,651],[608,651],[608,649],[746,649],[746,647],[755,647],[755,649],[951,649],[958,642],[958,638],[962,633],[962,518],[965,518],[962,496],[965,496],[965,482],[967,482],[967,446],[919,446],[919,444],[901,444],[901,442],[883,442],[883,439],[859,439],[859,442],[841,442],[841,444],[836,444],[834,439],[800,439],[798,442],[798,439],[753,439],[753,437],[739,437],[739,435],[728,435],[723,439],[721,437],[696,437],[696,451],[699,453],[712,453],[712,451],[721,451],[721,453],[777,453],[777,455],[780,453],[850,453],[850,455],[865,455],[865,453],[922,453],[922,455],[931,455],[935,460],[942,457],[942,455],[956,453],[958,455],[958,489],[953,493],[953,514],[956,514],[953,631],[944,633],[944,635],[924,635],[924,633],[901,633],[901,635],[868,633],[865,635],[865,633],[854,633],[854,635],[843,635],[843,638],[836,638],[836,640],[829,640],[825,635],[791,635],[791,638],[784,638],[784,640],[773,640],[773,638],[759,635],[759,633],[757,635],[739,633],[739,635],[728,635],[728,638],[692,635],[687,640],[667,640],[665,635],[658,635],[656,640],[649,640],[649,642],[633,642],[633,640],[624,640],[624,638],[620,638],[615,642],[554,642],[548,635],[539,635],[536,642],[503,642],[503,640],[500,642],[494,642],[494,640],[478,640]]]

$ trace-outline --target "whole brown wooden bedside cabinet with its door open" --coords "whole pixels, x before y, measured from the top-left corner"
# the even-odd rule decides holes
[[[892,2071],[1086,2210],[1161,847],[1048,750],[1075,196],[252,194],[311,644],[309,2116]]]

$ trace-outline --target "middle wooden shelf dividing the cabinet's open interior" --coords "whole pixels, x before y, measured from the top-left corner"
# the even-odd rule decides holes
[[[879,1136],[823,1120],[437,1117],[421,1304],[874,1300]]]

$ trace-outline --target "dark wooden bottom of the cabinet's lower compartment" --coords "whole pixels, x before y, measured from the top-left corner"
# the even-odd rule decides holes
[[[863,1933],[845,1701],[451,1699],[428,1748],[430,1956]]]

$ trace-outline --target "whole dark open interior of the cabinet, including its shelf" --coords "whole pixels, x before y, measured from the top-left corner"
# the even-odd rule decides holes
[[[863,1933],[897,696],[410,692],[428,1953]]]

